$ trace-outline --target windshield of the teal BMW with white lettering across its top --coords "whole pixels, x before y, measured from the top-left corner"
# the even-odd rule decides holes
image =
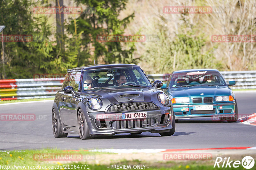
[[[223,86],[226,85],[226,83],[221,74],[216,71],[196,71],[172,74],[170,83],[171,88],[196,85]]]

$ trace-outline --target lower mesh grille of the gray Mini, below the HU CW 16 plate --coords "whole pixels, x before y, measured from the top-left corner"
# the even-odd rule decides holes
[[[152,126],[151,122],[151,119],[118,120],[116,121],[116,129],[149,127]]]

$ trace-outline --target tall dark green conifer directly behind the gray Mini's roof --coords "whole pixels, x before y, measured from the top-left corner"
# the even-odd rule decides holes
[[[87,8],[77,18],[77,33],[82,35],[81,51],[78,53],[78,66],[96,63],[136,63],[133,43],[123,49],[121,42],[99,42],[99,35],[123,34],[127,24],[134,17],[131,15],[119,19],[119,13],[125,9],[127,0],[77,0],[77,4]],[[68,26],[69,33],[75,32],[74,22]],[[99,61],[98,61],[99,60]]]

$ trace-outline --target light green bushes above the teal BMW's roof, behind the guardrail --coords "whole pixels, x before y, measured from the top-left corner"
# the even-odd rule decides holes
[[[192,68],[216,68],[220,65],[213,57],[214,48],[205,49],[206,38],[197,35],[196,30],[184,22],[183,29],[171,39],[168,29],[157,25],[158,40],[146,44],[147,51],[143,58],[152,65],[152,73],[171,73],[174,70]],[[191,27],[191,28],[188,28]],[[189,31],[187,31],[189,30]]]

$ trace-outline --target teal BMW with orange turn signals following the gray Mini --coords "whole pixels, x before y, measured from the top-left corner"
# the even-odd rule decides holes
[[[190,69],[174,71],[161,89],[172,100],[176,122],[178,119],[214,116],[236,122],[237,103],[228,87],[235,84],[236,81],[226,82],[216,69]]]

